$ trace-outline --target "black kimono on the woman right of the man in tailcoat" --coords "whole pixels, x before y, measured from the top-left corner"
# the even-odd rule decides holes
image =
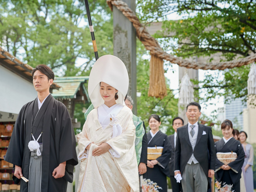
[[[240,178],[245,160],[245,152],[242,144],[233,137],[226,143],[223,138],[221,138],[219,141],[215,142],[215,148],[216,153],[234,152],[237,154],[236,160],[228,164],[228,166],[231,167],[229,170],[220,169],[224,163],[219,161],[216,157],[215,171],[217,171],[215,172],[215,179],[218,182],[222,182],[222,184],[226,183],[228,185],[233,185],[231,191],[234,190],[235,192],[240,192]],[[223,185],[221,187],[223,187]]]

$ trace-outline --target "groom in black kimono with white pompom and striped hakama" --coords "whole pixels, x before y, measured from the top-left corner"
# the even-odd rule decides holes
[[[37,98],[22,107],[4,160],[13,164],[13,180],[21,181],[22,192],[63,192],[78,163],[72,122],[65,105],[50,94],[52,69],[38,65],[32,76]],[[38,146],[29,148],[32,142]]]

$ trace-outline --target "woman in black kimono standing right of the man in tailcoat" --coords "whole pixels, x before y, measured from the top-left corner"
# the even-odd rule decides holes
[[[235,140],[232,135],[233,125],[231,121],[223,121],[223,123],[221,124],[221,130],[223,138],[215,142],[217,153],[215,164],[215,178],[218,181],[216,183],[216,187],[223,188],[226,184],[226,187],[231,188],[228,191],[234,190],[235,192],[240,192],[240,178],[242,166],[245,160],[245,152],[241,143],[238,140]],[[237,158],[228,164],[226,163],[225,165],[222,162],[223,160],[218,159],[218,153],[236,153]]]

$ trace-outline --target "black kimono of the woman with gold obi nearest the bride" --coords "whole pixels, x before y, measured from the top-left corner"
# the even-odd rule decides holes
[[[147,133],[148,147],[163,147],[163,152],[156,160],[160,163],[154,165],[154,168],[147,167],[147,172],[143,174],[142,189],[147,191],[152,185],[158,191],[167,192],[166,176],[170,177],[168,163],[171,156],[171,145],[167,135],[158,131],[152,138],[150,132]],[[149,160],[150,161],[150,160]]]

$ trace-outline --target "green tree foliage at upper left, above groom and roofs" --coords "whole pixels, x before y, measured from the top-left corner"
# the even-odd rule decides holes
[[[104,0],[89,4],[99,55],[111,54],[111,11]],[[0,15],[0,46],[25,63],[65,76],[90,69],[94,51],[83,0],[0,0]]]

